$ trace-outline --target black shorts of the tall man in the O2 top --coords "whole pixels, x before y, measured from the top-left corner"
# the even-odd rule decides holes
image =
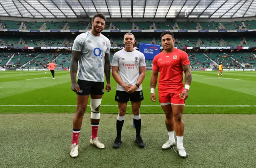
[[[77,84],[80,87],[80,92],[76,93],[78,95],[87,96],[89,94],[104,94],[104,82],[92,82],[78,79]]]

